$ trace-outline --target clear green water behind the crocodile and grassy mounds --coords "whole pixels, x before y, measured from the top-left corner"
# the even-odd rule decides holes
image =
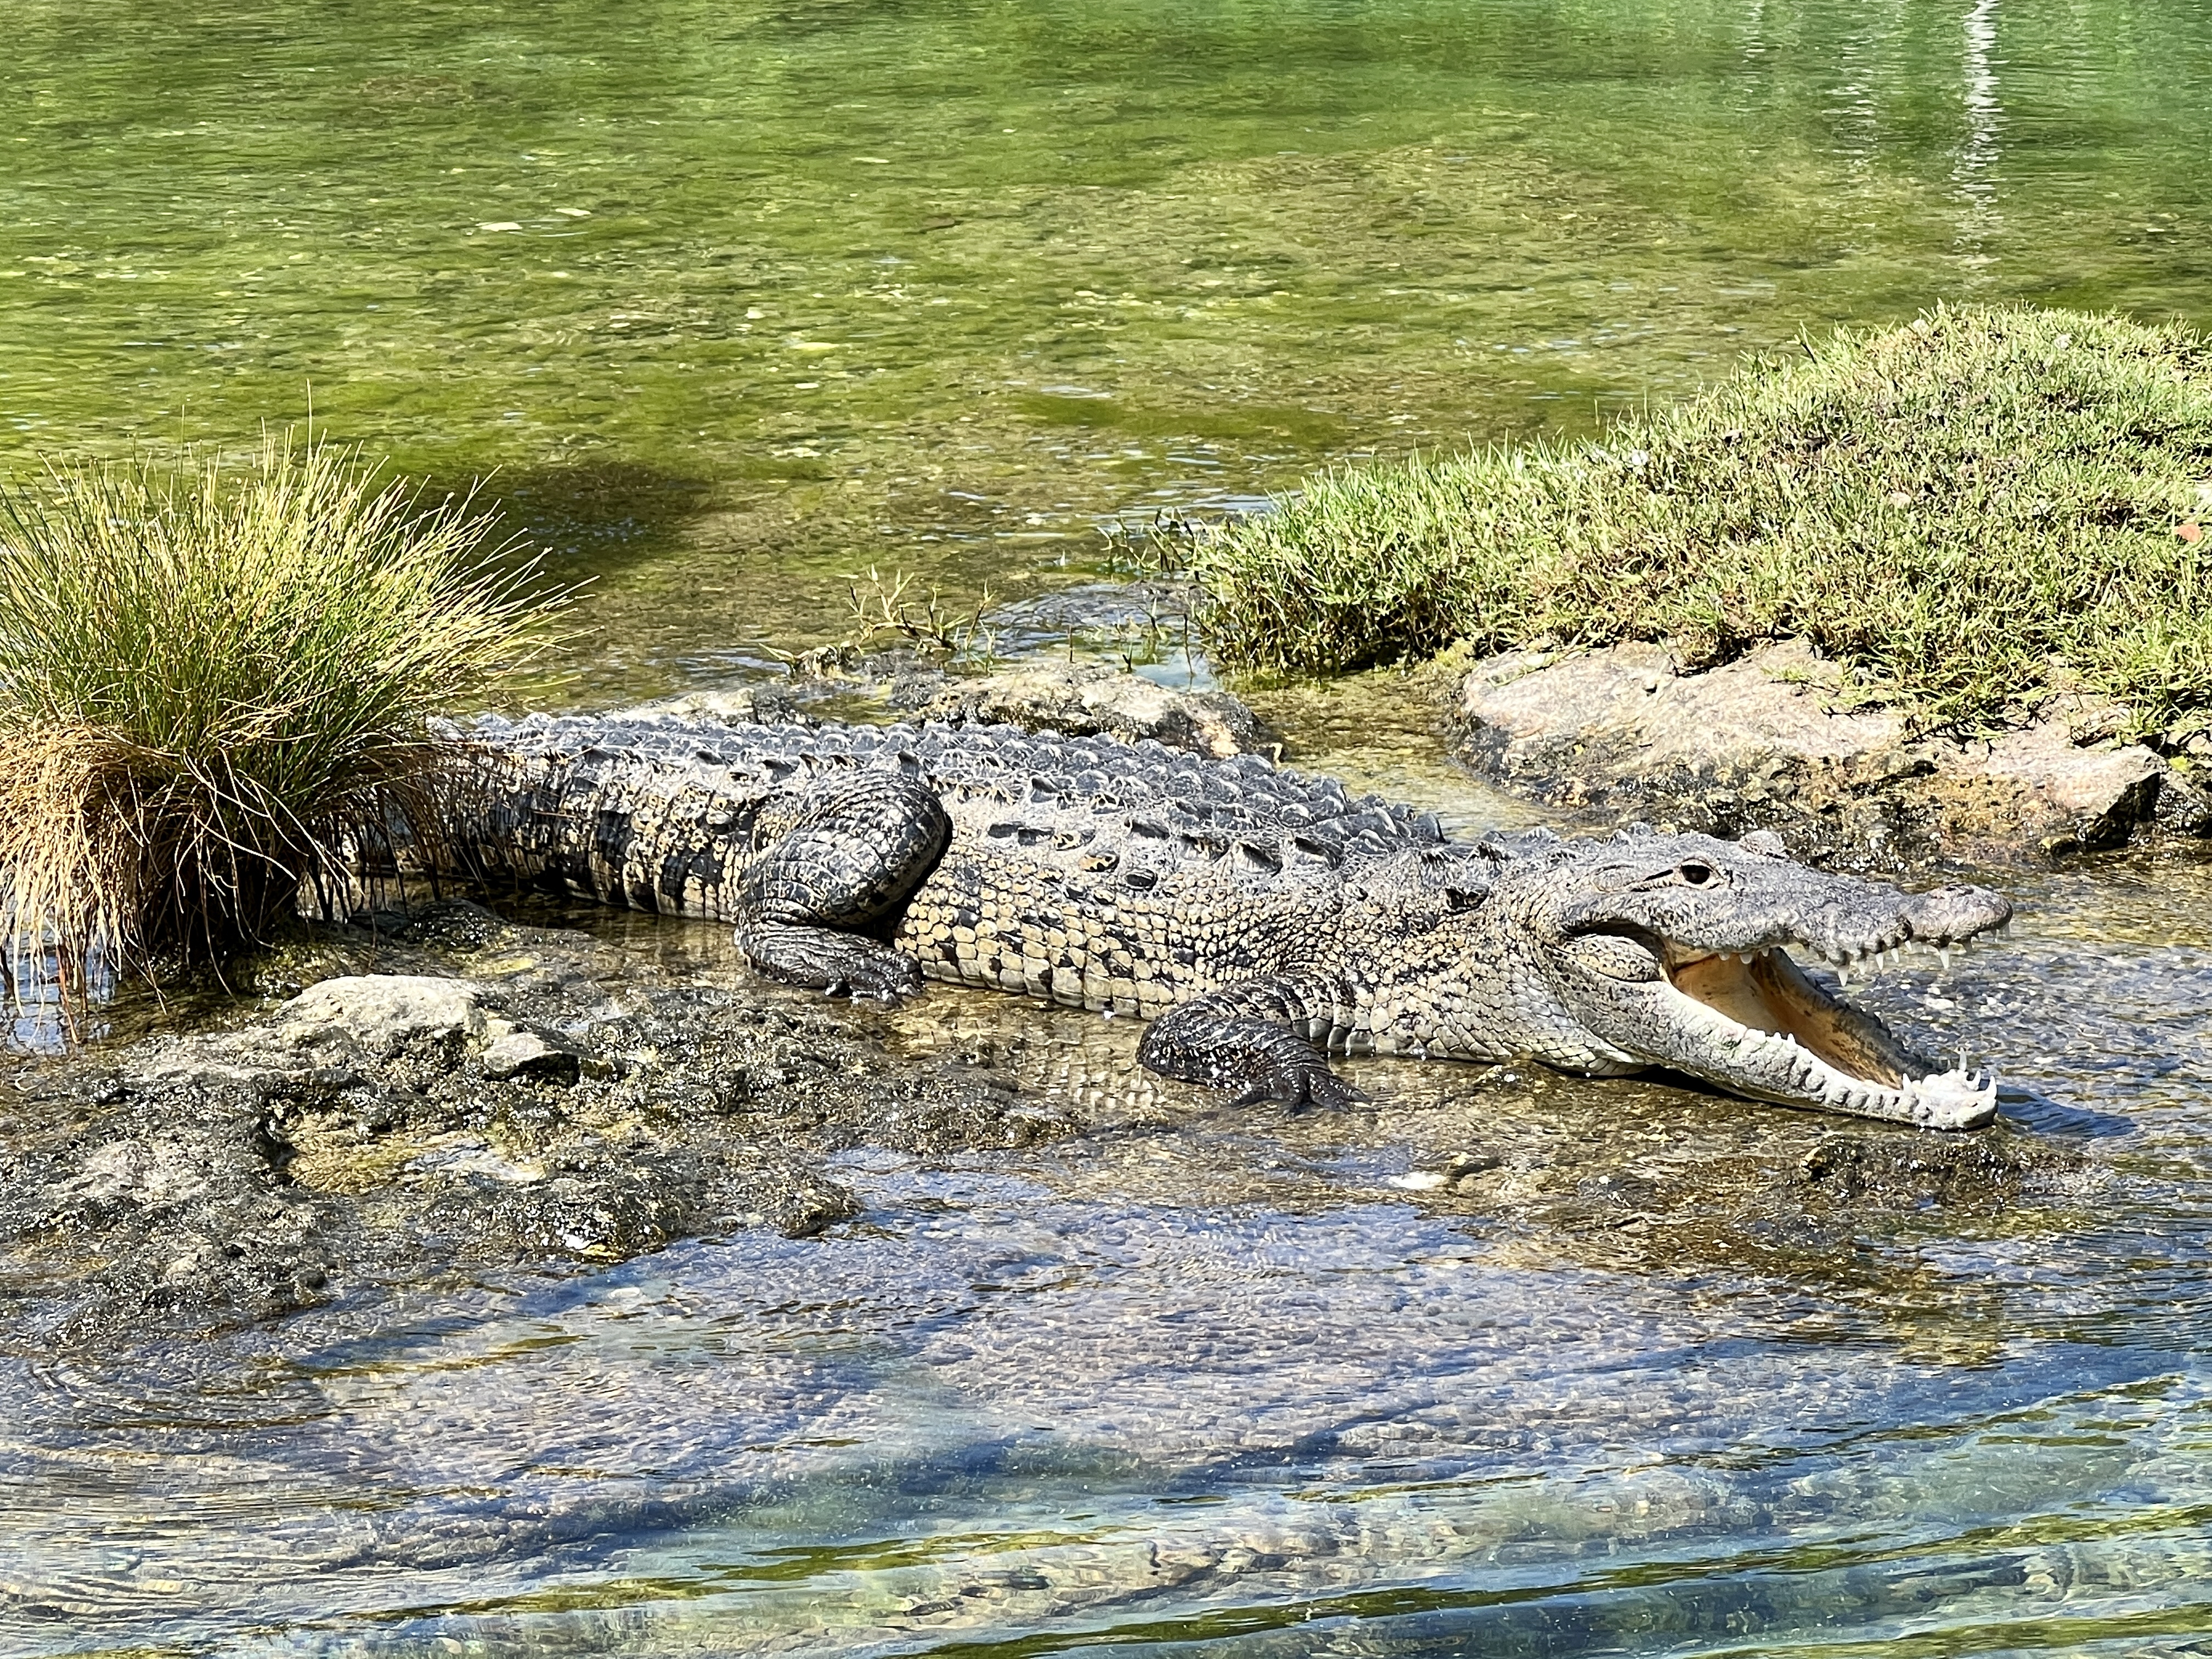
[[[2192,0],[9,0],[0,445],[312,389],[597,573],[577,701],[661,690],[1834,321],[2212,323],[2208,64]]]

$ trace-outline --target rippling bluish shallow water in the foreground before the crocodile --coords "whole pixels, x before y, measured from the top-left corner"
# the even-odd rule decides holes
[[[1869,998],[1997,1053],[1993,1133],[2084,1155],[2046,1192],[1792,1230],[1730,1166],[1834,1119],[1391,1062],[1343,1119],[1186,1093],[1013,1159],[856,1155],[869,1212],[821,1239],[0,1354],[0,1635],[2203,1652],[2212,872],[2020,896],[2002,949]],[[717,929],[611,929],[728,969]],[[1146,1086],[1119,1022],[931,991],[907,1031],[1046,1099]],[[1427,1177],[1451,1146],[1489,1186]]]

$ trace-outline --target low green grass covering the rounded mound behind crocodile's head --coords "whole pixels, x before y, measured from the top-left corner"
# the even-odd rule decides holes
[[[2137,734],[2212,703],[2212,354],[2181,327],[1938,307],[1838,332],[1597,440],[1334,471],[1206,538],[1234,666],[1453,641],[1803,635],[1869,699],[1975,730],[2088,690]]]

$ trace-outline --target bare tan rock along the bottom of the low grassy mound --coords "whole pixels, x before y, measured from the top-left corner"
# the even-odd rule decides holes
[[[1854,708],[1805,641],[1697,675],[1661,646],[1517,650],[1460,688],[1467,748],[1500,783],[1593,818],[1657,816],[1801,856],[2013,860],[2117,847],[2159,823],[2212,832],[2172,763],[2110,737],[2110,710],[2066,706],[1995,741],[1913,739]]]

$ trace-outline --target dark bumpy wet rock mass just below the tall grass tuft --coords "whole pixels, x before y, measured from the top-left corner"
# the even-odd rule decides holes
[[[24,1066],[0,1128],[0,1316],[97,1343],[456,1265],[805,1237],[858,1214],[830,1166],[852,1148],[958,1157],[1082,1128],[745,973],[699,984],[460,902],[330,933],[272,978],[345,971],[228,1031]]]

